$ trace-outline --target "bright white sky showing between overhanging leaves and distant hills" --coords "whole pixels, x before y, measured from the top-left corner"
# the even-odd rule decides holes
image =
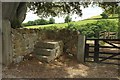
[[[80,17],[76,14],[72,15],[72,21],[79,21],[79,20],[84,20],[87,18],[90,18],[92,16],[97,16],[100,15],[103,12],[103,9],[98,7],[98,6],[89,6],[87,8],[83,8],[82,9],[82,13],[83,15]],[[26,19],[24,20],[23,23],[26,23],[28,21],[34,21],[36,19],[40,19],[37,14],[33,14],[33,11],[27,12],[26,14]],[[64,17],[54,17],[55,19],[55,23],[64,23]],[[47,18],[46,20],[49,20],[49,18]]]

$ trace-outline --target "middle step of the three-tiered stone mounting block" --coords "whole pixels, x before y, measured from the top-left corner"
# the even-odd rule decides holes
[[[37,48],[35,49],[35,54],[37,55],[43,55],[43,56],[50,56],[56,53],[56,49],[41,49]]]

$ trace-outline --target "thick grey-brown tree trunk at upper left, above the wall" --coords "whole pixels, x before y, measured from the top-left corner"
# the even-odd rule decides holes
[[[3,2],[2,18],[8,19],[12,28],[21,27],[26,16],[27,6],[25,2]]]

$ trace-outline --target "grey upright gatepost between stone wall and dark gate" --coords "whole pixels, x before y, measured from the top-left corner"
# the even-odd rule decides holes
[[[85,36],[78,36],[78,51],[77,51],[77,60],[80,63],[84,63],[84,51],[85,51]]]

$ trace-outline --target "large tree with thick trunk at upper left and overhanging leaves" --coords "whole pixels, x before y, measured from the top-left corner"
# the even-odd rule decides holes
[[[68,13],[82,15],[81,5],[88,7],[90,2],[3,2],[2,18],[8,19],[12,28],[21,27],[27,7],[40,17],[61,16]]]

